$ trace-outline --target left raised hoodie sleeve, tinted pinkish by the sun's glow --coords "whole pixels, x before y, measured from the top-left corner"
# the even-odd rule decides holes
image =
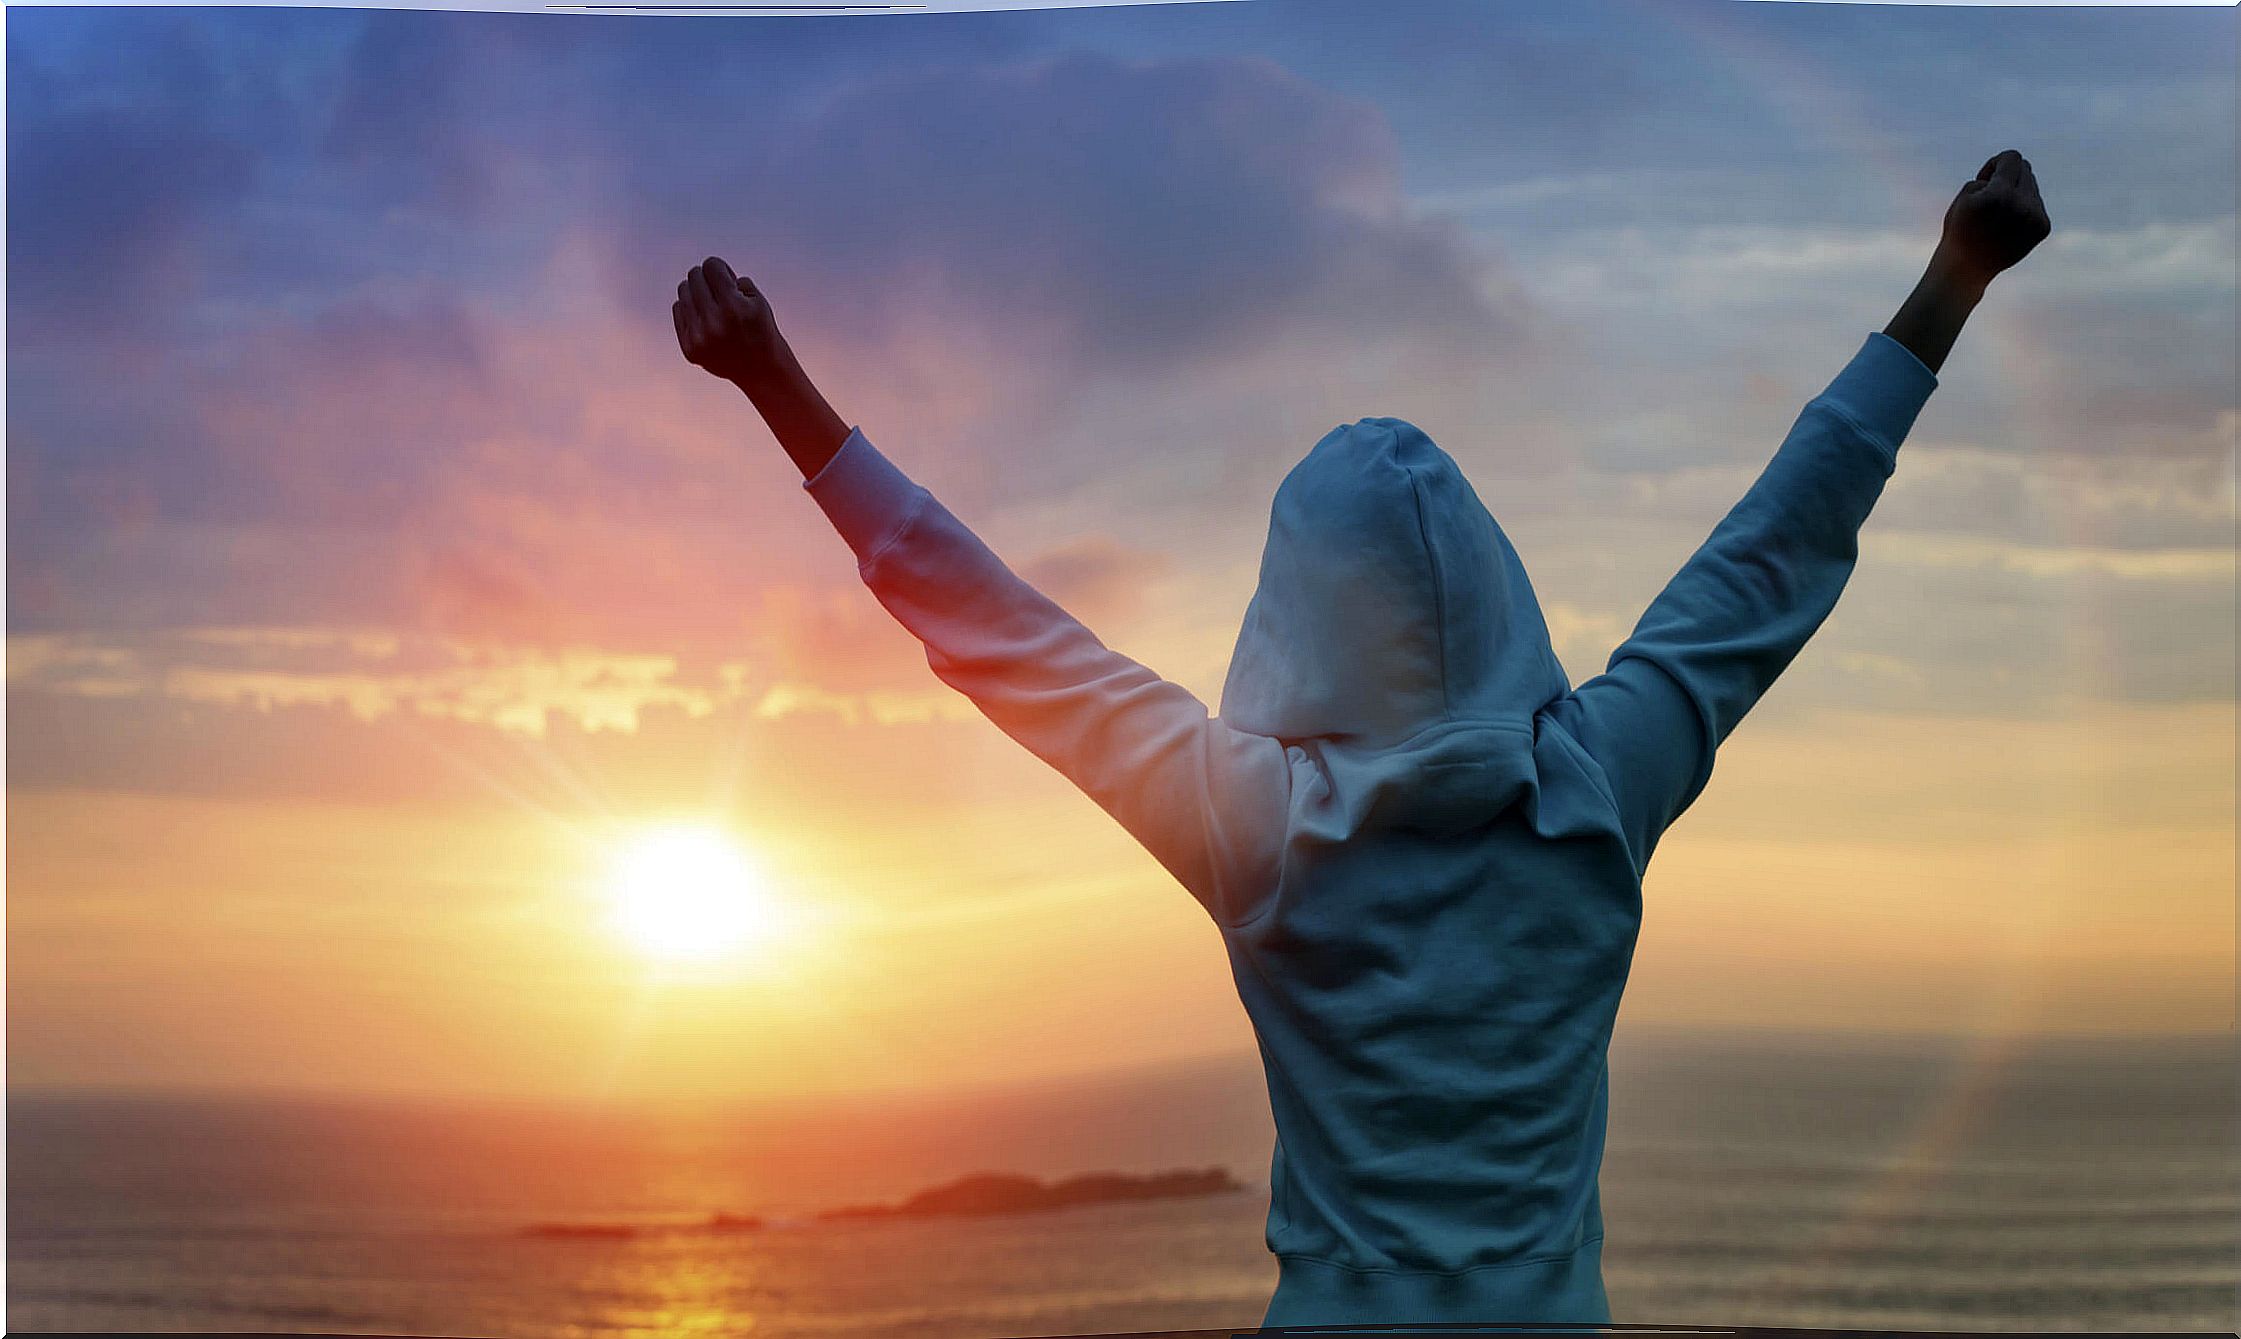
[[[1275,889],[1291,764],[1020,580],[861,428],[802,484],[934,674],[1096,799],[1221,925]]]

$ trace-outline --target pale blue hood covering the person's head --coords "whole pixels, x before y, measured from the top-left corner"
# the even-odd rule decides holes
[[[1221,719],[1398,743],[1571,690],[1508,535],[1414,423],[1333,428],[1275,493]]]

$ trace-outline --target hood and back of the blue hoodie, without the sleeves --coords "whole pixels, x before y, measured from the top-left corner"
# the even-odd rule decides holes
[[[1277,488],[1221,719],[1298,770],[1280,891],[1226,934],[1277,1149],[1268,1323],[1605,1310],[1605,1048],[1640,896],[1533,582],[1414,425]],[[1445,1310],[1443,1314],[1454,1314]]]

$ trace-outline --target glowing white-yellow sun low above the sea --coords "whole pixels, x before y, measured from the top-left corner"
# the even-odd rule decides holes
[[[632,947],[672,963],[735,956],[787,929],[771,880],[715,828],[654,828],[630,840],[607,869],[607,900]]]

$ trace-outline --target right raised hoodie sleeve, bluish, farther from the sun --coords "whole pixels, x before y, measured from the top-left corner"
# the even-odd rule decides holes
[[[1835,609],[1860,526],[1936,385],[1905,345],[1869,334],[1609,667],[1566,699],[1636,869],[1712,779],[1712,752]]]

